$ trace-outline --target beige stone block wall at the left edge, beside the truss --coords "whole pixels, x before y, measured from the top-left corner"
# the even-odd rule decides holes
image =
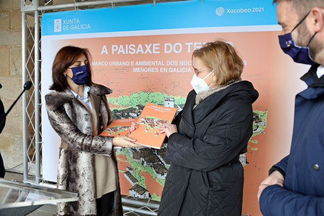
[[[0,97],[7,112],[22,90],[20,0],[0,0]],[[18,100],[0,134],[6,169],[22,163],[22,100]],[[22,165],[11,169],[22,172]]]

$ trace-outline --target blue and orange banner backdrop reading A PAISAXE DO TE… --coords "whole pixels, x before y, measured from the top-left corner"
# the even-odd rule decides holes
[[[51,65],[63,46],[88,48],[93,81],[107,86],[115,119],[137,118],[146,102],[182,110],[192,90],[191,54],[206,42],[231,43],[244,61],[242,80],[259,91],[254,133],[244,166],[242,213],[261,215],[258,186],[289,153],[294,95],[307,66],[280,50],[272,0],[186,1],[46,13],[42,18],[43,177],[56,182],[60,138],[49,124],[44,96]],[[289,86],[289,87],[287,87]],[[160,200],[170,163],[161,150],[116,150],[124,195]]]

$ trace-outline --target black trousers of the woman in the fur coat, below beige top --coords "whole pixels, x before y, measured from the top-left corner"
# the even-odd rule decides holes
[[[115,191],[104,194],[96,202],[98,216],[114,215]]]

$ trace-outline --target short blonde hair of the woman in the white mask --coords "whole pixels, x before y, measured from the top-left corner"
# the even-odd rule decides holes
[[[243,71],[243,61],[231,44],[223,41],[206,43],[195,50],[192,60],[199,58],[208,68],[214,70],[217,86],[238,79]]]

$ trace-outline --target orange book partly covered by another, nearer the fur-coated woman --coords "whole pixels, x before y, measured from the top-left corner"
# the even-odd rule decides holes
[[[132,122],[136,122],[138,119],[115,119],[110,123],[101,133],[101,136],[126,136]]]

